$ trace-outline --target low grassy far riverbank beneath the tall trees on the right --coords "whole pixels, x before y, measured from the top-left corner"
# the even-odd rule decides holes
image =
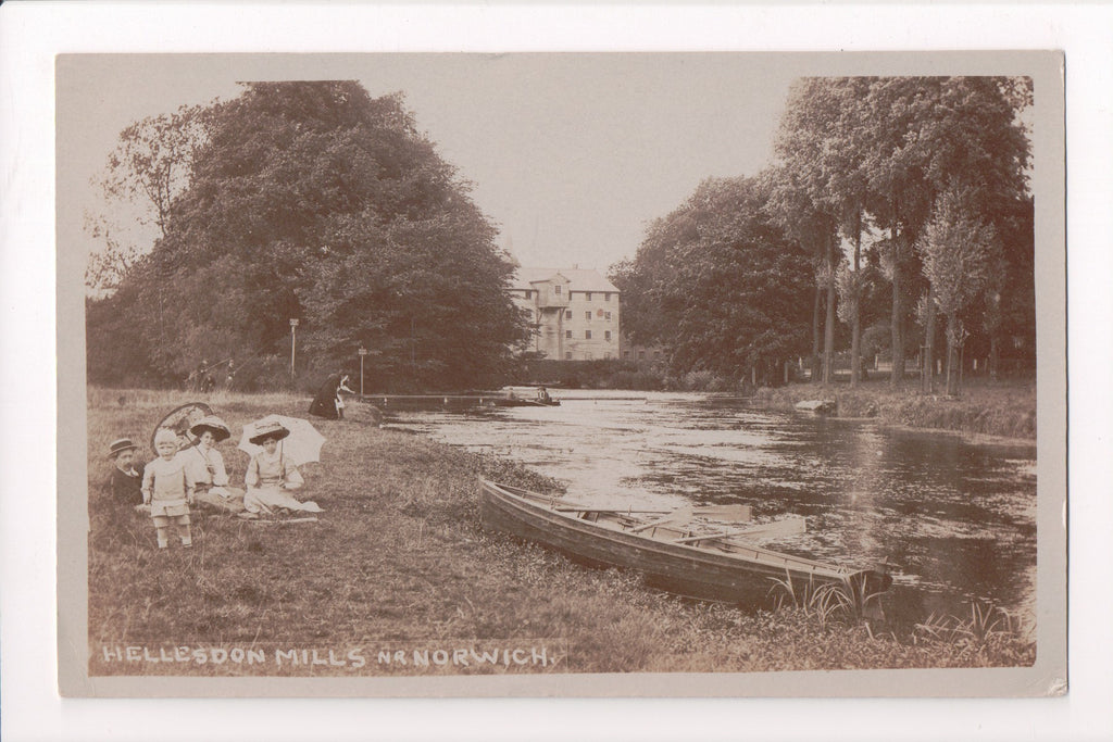
[[[983,434],[1035,441],[1035,382],[975,380],[962,394],[923,394],[915,382],[894,389],[888,379],[848,384],[788,386],[758,389],[754,404],[777,410],[792,410],[797,403],[819,399],[835,403],[835,416],[876,417],[907,427]]]

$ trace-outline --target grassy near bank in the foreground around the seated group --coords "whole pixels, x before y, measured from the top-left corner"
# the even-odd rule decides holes
[[[195,513],[193,550],[171,542],[160,552],[149,517],[104,491],[104,452],[130,435],[144,442],[141,458],[151,458],[152,426],[187,400],[184,393],[89,390],[91,674],[748,672],[1015,666],[1035,657],[1026,634],[988,621],[898,630],[808,605],[746,612],[683,601],[636,575],[584,568],[487,533],[479,475],[534,488],[553,483],[509,462],[380,429],[359,405],[346,421],[314,418],[327,443],[321,463],[304,467],[303,498],[324,508],[318,522]],[[206,402],[238,433],[269,413],[304,417],[309,399],[216,394]],[[234,482],[247,464],[238,437],[221,444]],[[506,653],[486,663],[475,654],[467,664],[435,662],[437,649],[475,646],[543,646],[548,654],[540,670]],[[164,659],[127,661],[137,647]],[[185,661],[166,660],[175,647],[189,652]],[[434,661],[414,665],[415,647],[433,650]],[[234,662],[229,650],[264,652],[267,662]],[[319,662],[301,650],[318,650]],[[273,661],[279,651],[287,660],[280,666]],[[407,661],[384,663],[382,652]]]

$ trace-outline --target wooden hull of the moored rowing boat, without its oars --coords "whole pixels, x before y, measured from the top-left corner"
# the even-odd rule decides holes
[[[775,603],[780,583],[791,582],[796,594],[804,595],[809,586],[843,584],[855,575],[867,581],[866,594],[888,587],[889,578],[873,571],[855,573],[757,546],[731,545],[728,553],[669,543],[603,527],[591,520],[590,511],[562,512],[485,481],[481,487],[487,527],[558,550],[578,562],[636,570],[649,584],[688,597],[768,606]]]

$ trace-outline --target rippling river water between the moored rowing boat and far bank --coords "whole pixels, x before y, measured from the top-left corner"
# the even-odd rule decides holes
[[[972,597],[1031,612],[1035,445],[784,414],[703,395],[568,392],[560,407],[388,414],[452,445],[516,459],[597,506],[743,503],[799,513],[780,551],[847,565],[888,558],[886,610],[922,620]]]

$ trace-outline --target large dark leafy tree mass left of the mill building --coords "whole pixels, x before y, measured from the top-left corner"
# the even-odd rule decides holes
[[[317,369],[372,348],[376,388],[482,384],[524,343],[496,230],[401,96],[246,83],[124,130],[107,172],[108,199],[145,202],[157,237],[136,249],[91,221],[108,249],[87,276],[90,380],[274,367],[292,318]]]

